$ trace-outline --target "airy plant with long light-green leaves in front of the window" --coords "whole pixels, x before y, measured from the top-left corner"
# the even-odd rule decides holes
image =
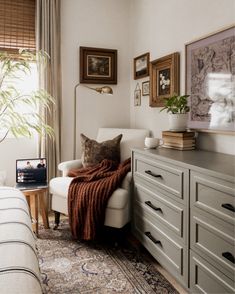
[[[50,111],[54,99],[44,90],[22,93],[17,80],[30,74],[31,62],[42,64],[47,55],[43,52],[20,51],[17,58],[0,52],[0,143],[8,134],[14,137],[32,137],[36,132],[53,137],[53,129],[44,123],[39,109]]]

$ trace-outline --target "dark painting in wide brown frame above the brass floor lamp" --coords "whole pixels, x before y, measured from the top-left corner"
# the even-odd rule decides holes
[[[80,83],[117,84],[117,50],[80,47]]]

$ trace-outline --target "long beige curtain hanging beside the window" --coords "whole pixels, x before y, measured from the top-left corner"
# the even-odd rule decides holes
[[[37,0],[36,15],[37,50],[49,56],[46,66],[39,67],[39,86],[55,99],[51,111],[41,113],[45,123],[53,127],[55,139],[45,137],[39,142],[39,157],[48,161],[48,177],[58,173],[57,165],[61,159],[61,53],[60,53],[60,0]]]

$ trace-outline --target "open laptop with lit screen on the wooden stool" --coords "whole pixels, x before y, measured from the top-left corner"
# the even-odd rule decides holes
[[[17,159],[16,188],[20,190],[47,188],[46,158]]]

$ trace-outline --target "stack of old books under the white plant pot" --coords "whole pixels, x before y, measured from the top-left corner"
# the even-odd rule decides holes
[[[162,139],[163,147],[177,150],[193,150],[195,149],[195,133],[194,132],[171,132],[163,131]]]

